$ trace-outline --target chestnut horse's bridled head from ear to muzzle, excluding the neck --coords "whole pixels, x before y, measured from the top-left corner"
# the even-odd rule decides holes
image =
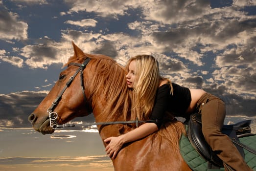
[[[90,77],[87,71],[90,70],[90,64],[83,65],[86,59],[86,63],[90,59],[88,60],[89,57],[74,43],[72,44],[74,56],[65,64],[68,65],[67,69],[60,73],[56,84],[28,117],[33,128],[43,134],[54,132],[50,127],[50,114],[52,117],[58,116],[58,124],[64,124],[75,117],[86,116],[92,112],[88,101],[88,82],[84,82]]]

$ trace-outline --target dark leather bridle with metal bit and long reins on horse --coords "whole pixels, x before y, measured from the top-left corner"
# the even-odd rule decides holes
[[[84,101],[86,101],[86,95],[85,95],[85,88],[84,88],[84,82],[83,82],[83,70],[86,68],[86,65],[90,62],[90,58],[86,57],[85,61],[83,62],[83,64],[80,63],[70,63],[68,64],[68,67],[70,65],[74,65],[74,66],[79,66],[79,68],[76,70],[76,72],[70,77],[69,81],[66,83],[66,85],[64,86],[64,88],[62,89],[62,91],[58,94],[58,96],[56,97],[56,99],[52,102],[51,107],[49,107],[47,109],[47,112],[49,113],[49,122],[50,122],[50,127],[53,129],[56,128],[65,128],[65,127],[74,127],[74,124],[62,124],[62,125],[58,125],[57,123],[57,118],[58,118],[58,113],[53,111],[54,108],[57,106],[57,104],[59,103],[59,101],[61,100],[61,97],[63,95],[63,93],[65,92],[65,90],[70,86],[70,84],[73,82],[74,78],[76,77],[76,75],[78,73],[80,73],[80,85],[82,88],[82,92],[84,95]],[[136,118],[135,121],[114,121],[114,122],[98,122],[98,123],[88,123],[88,124],[83,124],[83,126],[92,126],[92,125],[113,125],[113,124],[136,124],[136,127],[139,127],[140,123],[146,123],[146,122],[153,122],[153,123],[158,123],[159,121],[156,120],[147,120],[147,121],[139,121],[138,118]],[[81,124],[79,124],[81,125]]]

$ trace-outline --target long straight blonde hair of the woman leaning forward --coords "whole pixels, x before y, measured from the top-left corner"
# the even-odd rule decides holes
[[[170,80],[161,77],[158,61],[150,55],[137,55],[132,57],[126,64],[125,70],[128,72],[129,65],[136,61],[136,79],[133,86],[132,113],[140,120],[150,117],[154,107],[157,89],[161,80]],[[172,90],[172,88],[171,88]]]

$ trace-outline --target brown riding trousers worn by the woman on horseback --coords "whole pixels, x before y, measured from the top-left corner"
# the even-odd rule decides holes
[[[206,93],[197,103],[197,112],[202,114],[204,137],[218,157],[234,171],[253,171],[245,163],[230,138],[221,133],[226,116],[225,103],[220,98]],[[225,170],[228,171],[226,167]]]

